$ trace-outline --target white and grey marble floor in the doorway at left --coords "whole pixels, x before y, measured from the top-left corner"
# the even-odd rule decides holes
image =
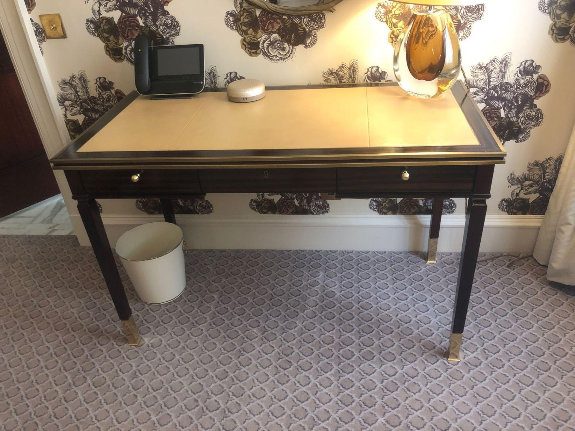
[[[74,233],[62,195],[0,218],[0,235],[70,235]]]

